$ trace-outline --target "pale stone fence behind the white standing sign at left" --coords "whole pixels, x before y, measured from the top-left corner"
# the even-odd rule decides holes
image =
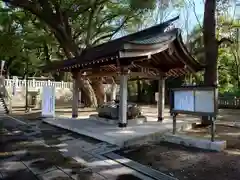
[[[26,85],[28,85],[28,103],[29,105],[40,105],[41,94],[44,86],[55,87],[56,106],[71,106],[72,105],[72,82],[64,81],[50,81],[50,80],[20,80],[20,79],[5,79],[5,89],[9,95],[13,92],[15,84],[16,93],[12,96],[12,106],[21,107],[25,106]],[[105,93],[111,92],[111,84],[104,85]],[[118,88],[119,91],[119,88]]]

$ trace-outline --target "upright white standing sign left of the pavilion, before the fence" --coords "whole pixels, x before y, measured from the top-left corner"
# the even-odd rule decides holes
[[[55,116],[55,88],[44,86],[42,92],[42,117]]]

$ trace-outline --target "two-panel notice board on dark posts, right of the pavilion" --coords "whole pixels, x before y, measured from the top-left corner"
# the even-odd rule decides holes
[[[211,141],[215,136],[215,119],[218,113],[216,88],[189,86],[172,89],[170,112],[173,116],[173,134],[176,133],[176,116],[192,114],[211,119]]]

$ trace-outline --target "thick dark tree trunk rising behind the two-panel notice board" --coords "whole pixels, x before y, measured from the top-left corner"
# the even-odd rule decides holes
[[[205,1],[203,37],[205,49],[206,69],[204,73],[204,84],[207,86],[218,85],[218,43],[216,40],[216,0]],[[207,117],[202,118],[202,125],[209,125],[211,121]]]

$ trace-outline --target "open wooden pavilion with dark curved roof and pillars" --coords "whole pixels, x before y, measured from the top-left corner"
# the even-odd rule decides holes
[[[165,79],[203,69],[185,47],[180,29],[169,29],[173,18],[162,24],[85,49],[78,57],[54,61],[47,71],[74,75],[72,115],[78,116],[78,78],[120,77],[119,127],[127,125],[127,81],[140,77],[159,80],[158,120],[164,116]]]

